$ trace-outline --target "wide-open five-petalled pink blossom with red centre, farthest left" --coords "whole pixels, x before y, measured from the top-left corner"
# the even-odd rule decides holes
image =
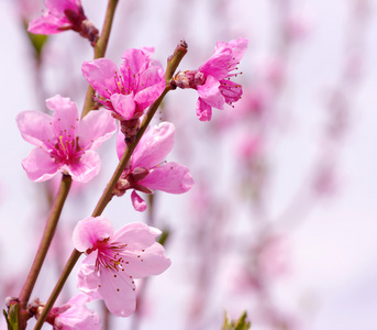
[[[117,130],[107,111],[90,111],[82,120],[76,103],[59,95],[46,100],[53,117],[38,111],[23,111],[16,122],[22,138],[36,145],[22,161],[30,179],[45,182],[57,173],[87,183],[95,177],[101,161],[93,151]]]

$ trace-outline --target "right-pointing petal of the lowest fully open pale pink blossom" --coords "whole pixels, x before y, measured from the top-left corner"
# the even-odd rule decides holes
[[[159,243],[154,243],[152,246],[144,249],[145,251],[137,252],[137,255],[124,253],[123,258],[129,261],[126,265],[127,273],[134,278],[158,275],[165,272],[171,261],[165,256],[165,249]],[[133,256],[132,258],[130,256]]]

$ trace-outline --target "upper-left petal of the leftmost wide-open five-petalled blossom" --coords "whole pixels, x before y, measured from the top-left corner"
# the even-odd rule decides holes
[[[52,118],[38,111],[23,111],[16,117],[16,123],[22,138],[36,146],[44,146],[44,143],[55,144],[56,138],[52,127]]]

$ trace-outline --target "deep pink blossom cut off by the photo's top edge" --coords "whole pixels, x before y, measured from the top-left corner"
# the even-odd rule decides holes
[[[80,0],[45,0],[46,11],[30,22],[27,31],[35,34],[55,34],[74,30],[92,43],[98,40],[97,28],[88,21]]]

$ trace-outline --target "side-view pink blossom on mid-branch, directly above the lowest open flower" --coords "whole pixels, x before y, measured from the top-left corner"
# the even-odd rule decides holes
[[[193,179],[190,170],[177,163],[164,163],[174,145],[175,127],[163,122],[147,131],[138,142],[127,166],[121,175],[115,195],[121,196],[127,189],[136,211],[144,211],[146,202],[135,190],[152,194],[163,190],[169,194],[182,194],[191,189]],[[117,152],[122,157],[125,148],[123,134],[118,134]]]

